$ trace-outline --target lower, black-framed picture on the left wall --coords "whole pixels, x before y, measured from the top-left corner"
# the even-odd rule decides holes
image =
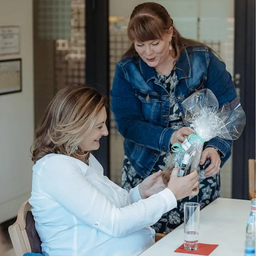
[[[0,60],[0,94],[21,92],[21,59]]]

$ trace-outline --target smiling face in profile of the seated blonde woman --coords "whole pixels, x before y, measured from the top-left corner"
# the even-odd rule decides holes
[[[100,138],[108,135],[108,128],[106,126],[107,113],[106,108],[103,107],[88,135],[79,143],[83,151],[92,151],[100,148]]]

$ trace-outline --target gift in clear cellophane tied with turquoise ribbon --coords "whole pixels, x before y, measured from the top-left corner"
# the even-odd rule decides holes
[[[180,166],[179,176],[185,176],[198,167],[204,142],[220,137],[236,140],[242,134],[246,116],[239,98],[231,103],[225,103],[219,109],[219,104],[213,92],[207,88],[196,91],[184,102],[184,124],[194,130],[180,145],[172,145],[172,152],[168,156],[164,168],[164,176],[170,177],[172,168]],[[166,178],[164,178],[166,179]]]

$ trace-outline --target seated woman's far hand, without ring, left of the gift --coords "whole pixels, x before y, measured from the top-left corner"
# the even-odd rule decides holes
[[[139,192],[142,199],[148,198],[165,188],[161,170],[151,174],[139,184]]]

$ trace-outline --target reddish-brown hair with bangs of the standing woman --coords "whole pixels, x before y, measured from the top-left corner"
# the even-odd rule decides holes
[[[188,46],[206,46],[196,40],[182,37],[178,30],[173,26],[173,21],[167,10],[160,4],[147,2],[136,6],[130,16],[127,32],[128,38],[133,43],[124,53],[122,58],[138,55],[134,47],[134,40],[145,42],[161,39],[164,34],[170,34],[170,27],[173,28],[171,44],[174,49],[174,58],[176,60],[180,57],[180,52]],[[206,47],[210,49],[210,47]]]

